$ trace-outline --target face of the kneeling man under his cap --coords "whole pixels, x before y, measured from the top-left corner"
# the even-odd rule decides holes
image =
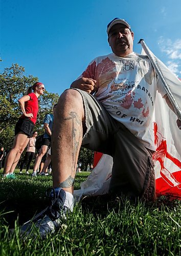
[[[134,34],[125,25],[114,25],[108,35],[109,46],[118,56],[126,56],[133,51]]]

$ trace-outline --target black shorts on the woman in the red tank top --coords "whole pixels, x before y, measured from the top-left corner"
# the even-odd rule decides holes
[[[24,132],[28,135],[28,138],[31,138],[33,136],[34,126],[35,125],[31,120],[19,118],[15,125],[14,134],[16,136],[19,132]]]

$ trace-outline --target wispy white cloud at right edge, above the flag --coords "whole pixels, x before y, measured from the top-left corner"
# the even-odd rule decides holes
[[[165,39],[161,36],[158,40],[158,45],[162,52],[166,53],[168,57],[167,66],[168,68],[177,74],[181,74],[181,39],[176,39],[175,41],[167,38]]]

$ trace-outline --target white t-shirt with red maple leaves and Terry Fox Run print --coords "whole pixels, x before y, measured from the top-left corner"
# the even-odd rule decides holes
[[[123,123],[147,148],[155,150],[153,110],[156,91],[166,94],[160,79],[145,55],[114,53],[95,58],[81,77],[96,82],[95,97],[107,112]]]

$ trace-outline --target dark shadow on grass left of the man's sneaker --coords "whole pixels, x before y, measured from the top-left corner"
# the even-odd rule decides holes
[[[0,210],[10,212],[4,216],[10,228],[14,228],[17,217],[22,224],[46,205],[46,184],[31,181],[6,181],[1,183]]]

